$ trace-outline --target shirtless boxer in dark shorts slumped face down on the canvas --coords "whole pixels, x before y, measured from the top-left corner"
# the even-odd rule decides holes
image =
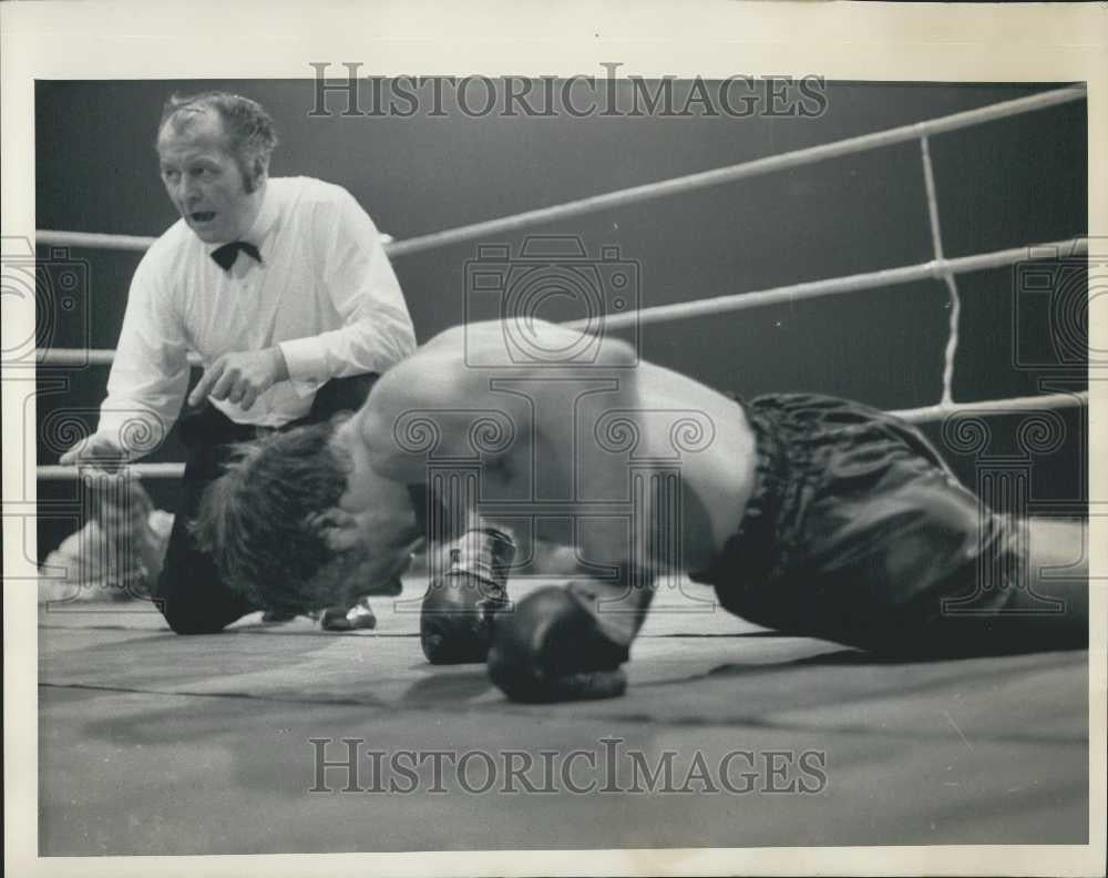
[[[751,622],[885,655],[1087,644],[1081,523],[985,508],[914,427],[823,396],[740,404],[613,339],[529,361],[519,331],[553,354],[582,339],[456,327],[352,416],[244,446],[196,523],[224,574],[301,611],[388,582],[424,535],[464,533],[434,572],[469,588],[425,601],[470,620],[437,644],[478,642],[434,654],[488,655],[521,701],[620,693],[654,583],[679,572]],[[577,570],[509,604],[471,563],[497,527],[568,544]]]

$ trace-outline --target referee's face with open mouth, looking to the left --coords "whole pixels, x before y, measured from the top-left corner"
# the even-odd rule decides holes
[[[246,191],[216,114],[167,122],[157,139],[157,155],[170,201],[201,241],[226,244],[250,229],[265,187]]]

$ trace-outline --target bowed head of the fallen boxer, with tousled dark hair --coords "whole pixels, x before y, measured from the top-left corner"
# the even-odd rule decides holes
[[[341,440],[342,420],[240,445],[205,492],[193,524],[201,545],[267,610],[350,605],[387,590],[410,557],[408,489],[363,471]]]

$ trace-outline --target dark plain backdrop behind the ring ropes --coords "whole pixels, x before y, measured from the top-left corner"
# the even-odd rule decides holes
[[[153,141],[162,102],[173,91],[227,89],[259,101],[274,115],[281,139],[273,175],[341,184],[382,231],[402,239],[1059,84],[829,83],[827,110],[814,119],[763,113],[747,119],[468,118],[456,112],[448,90],[444,116],[403,119],[343,118],[338,112],[345,106],[341,95],[329,99],[332,115],[311,118],[315,84],[308,80],[39,82],[37,226],[133,235],[156,235],[170,226],[176,215],[157,177]],[[1086,113],[1084,101],[1071,102],[932,139],[947,256],[1087,234]],[[527,234],[579,235],[591,255],[617,245],[623,258],[640,266],[644,306],[891,268],[932,256],[916,142],[536,226],[492,242],[509,243],[514,252]],[[475,247],[470,242],[394,258],[420,341],[463,319],[464,264]],[[39,247],[39,258],[88,262],[88,284],[76,306],[40,315],[39,345],[115,347],[140,254],[80,248],[59,254]],[[1051,308],[1053,292],[1032,296],[1013,268],[962,275],[957,283],[963,310],[955,399],[1085,387],[1084,364],[1051,346],[1057,336],[1051,320],[1059,313],[1056,303]],[[810,390],[910,408],[938,400],[947,319],[945,287],[929,280],[645,327],[642,354],[743,396]],[[1083,319],[1078,313],[1078,323]],[[1084,324],[1077,331],[1084,333]],[[40,367],[40,463],[57,462],[66,443],[51,426],[61,407],[76,407],[76,417],[94,426],[106,378],[106,367]],[[1034,460],[1033,499],[1087,497],[1084,415],[1070,410],[1064,419],[1065,443]],[[1020,420],[991,420],[992,453],[1010,450]],[[926,431],[942,443],[940,425]],[[978,461],[944,450],[958,476],[973,486]],[[148,460],[182,457],[171,435]],[[174,509],[172,480],[147,484],[158,506]],[[40,557],[73,527],[50,518],[49,508],[70,506],[76,490],[74,482],[39,482]]]

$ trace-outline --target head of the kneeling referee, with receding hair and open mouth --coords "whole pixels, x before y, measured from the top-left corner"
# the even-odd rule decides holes
[[[156,145],[170,201],[201,241],[223,244],[250,229],[277,145],[259,104],[225,92],[174,95],[162,110]]]

